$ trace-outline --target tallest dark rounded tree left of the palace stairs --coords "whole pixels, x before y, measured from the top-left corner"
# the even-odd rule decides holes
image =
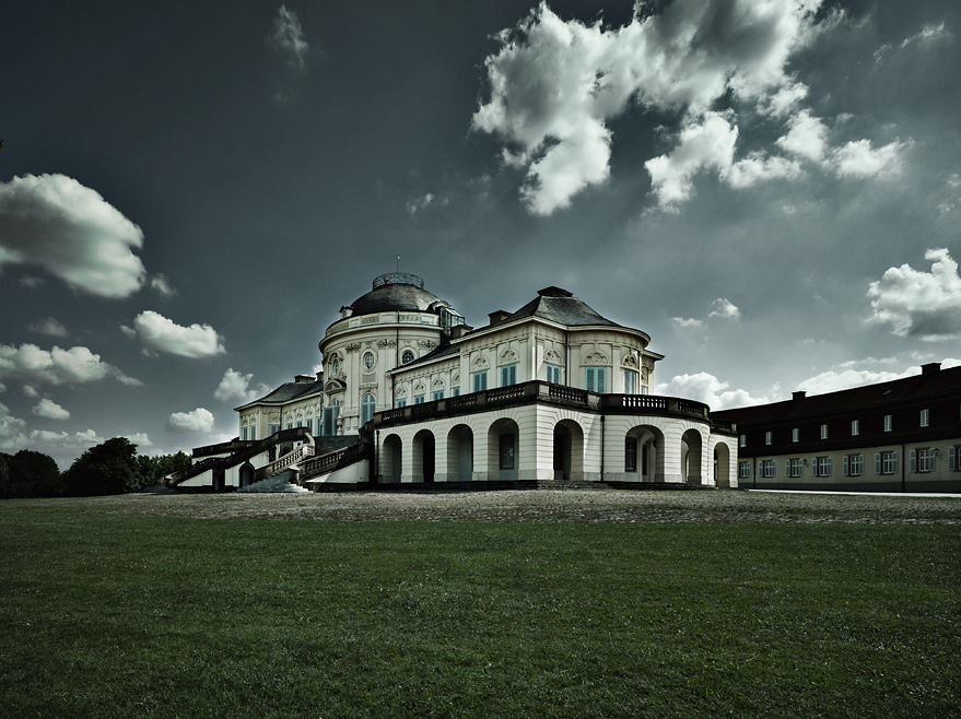
[[[63,473],[70,496],[124,494],[142,488],[137,445],[124,437],[91,447]]]

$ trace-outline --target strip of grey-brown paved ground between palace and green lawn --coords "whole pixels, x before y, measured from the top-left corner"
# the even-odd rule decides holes
[[[959,524],[961,496],[715,490],[218,495],[141,493],[108,497],[10,499],[0,502],[0,510],[316,521]]]

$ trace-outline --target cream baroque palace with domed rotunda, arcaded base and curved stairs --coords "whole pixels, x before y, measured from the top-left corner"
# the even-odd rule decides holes
[[[196,449],[168,484],[737,486],[735,427],[648,393],[663,355],[646,333],[560,287],[489,317],[470,327],[420,278],[378,276],[327,328],[323,373],[237,408],[239,436]]]

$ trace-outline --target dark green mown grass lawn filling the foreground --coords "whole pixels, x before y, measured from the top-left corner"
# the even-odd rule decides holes
[[[961,716],[957,526],[0,511],[3,717]]]

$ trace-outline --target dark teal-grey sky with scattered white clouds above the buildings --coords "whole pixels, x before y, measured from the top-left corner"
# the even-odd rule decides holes
[[[12,3],[0,450],[233,437],[398,255],[717,409],[958,364],[959,75],[953,0]]]

